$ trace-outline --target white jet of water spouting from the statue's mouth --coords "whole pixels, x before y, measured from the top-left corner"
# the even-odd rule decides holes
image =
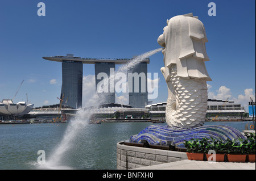
[[[162,48],[151,50],[150,52],[146,52],[141,54],[140,56],[135,57],[131,61],[127,62],[127,64],[121,66],[116,73],[124,72],[130,70],[131,68],[134,68],[145,58],[148,58],[153,54],[160,52],[160,50],[162,50]],[[110,77],[109,79],[111,78],[112,77]],[[107,81],[109,81],[109,79]],[[79,134],[84,130],[86,125],[88,125],[88,121],[93,115],[94,110],[97,109],[102,102],[104,102],[104,98],[102,98],[102,96],[100,96],[100,94],[96,92],[96,94],[86,102],[85,107],[88,108],[77,111],[76,117],[74,117],[73,120],[68,123],[68,128],[65,131],[63,140],[57,146],[55,151],[53,151],[53,154],[49,157],[48,161],[46,161],[46,163],[39,164],[39,169],[72,169],[70,167],[63,166],[61,160],[64,158],[65,153],[67,153],[67,151],[72,148],[73,141],[75,140],[75,138],[79,137]]]

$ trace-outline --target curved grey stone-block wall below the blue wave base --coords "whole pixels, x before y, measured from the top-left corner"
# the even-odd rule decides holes
[[[137,169],[188,159],[185,152],[127,146],[123,141],[117,143],[117,169]]]

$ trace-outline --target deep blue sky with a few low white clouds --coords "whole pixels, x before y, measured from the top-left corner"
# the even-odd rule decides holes
[[[39,2],[46,16],[38,16]],[[209,2],[216,16],[209,16]],[[35,106],[56,104],[61,90],[61,64],[43,56],[73,53],[78,57],[131,58],[160,48],[156,42],[166,20],[193,12],[204,23],[213,81],[209,98],[236,100],[246,106],[255,100],[255,1],[1,1],[0,99],[13,98]],[[163,54],[150,57],[148,72],[159,75],[159,96],[167,100],[160,68]],[[84,65],[84,94],[93,87],[93,65]],[[124,97],[119,99],[126,100]]]

